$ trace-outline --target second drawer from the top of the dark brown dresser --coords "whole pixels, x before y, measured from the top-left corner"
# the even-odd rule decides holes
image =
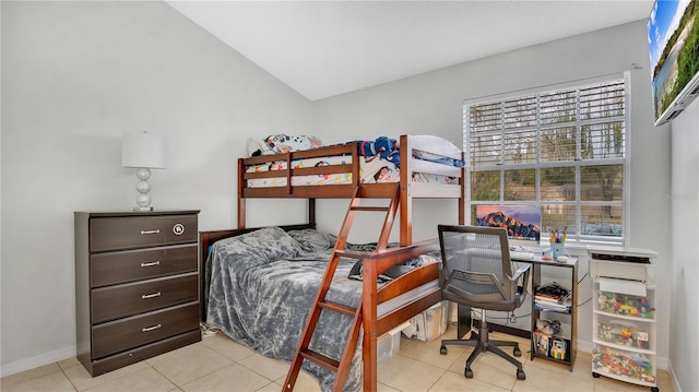
[[[100,287],[197,271],[197,250],[193,243],[93,254],[90,257],[90,286]]]

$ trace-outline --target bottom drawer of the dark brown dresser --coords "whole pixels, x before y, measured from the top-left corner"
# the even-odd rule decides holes
[[[180,305],[92,329],[93,359],[199,329],[199,304]]]

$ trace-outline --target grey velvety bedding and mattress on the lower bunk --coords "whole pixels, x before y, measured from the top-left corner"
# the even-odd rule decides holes
[[[300,340],[306,319],[335,245],[336,237],[312,229],[284,231],[263,228],[213,245],[205,265],[206,320],[236,342],[268,357],[291,363]],[[371,251],[371,245],[345,248]],[[436,254],[424,254],[401,265],[410,270],[425,263],[439,262]],[[356,260],[341,259],[327,298],[356,307],[362,283],[353,275]],[[355,268],[356,270],[356,268]],[[389,277],[386,277],[390,280]],[[437,285],[437,282],[426,284]],[[394,309],[399,302],[419,296],[425,287],[388,301],[379,314]],[[322,312],[310,348],[331,358],[340,358],[352,319]],[[357,345],[345,382],[345,391],[362,390],[362,344]],[[304,361],[304,371],[318,379],[321,390],[330,391],[335,373]]]

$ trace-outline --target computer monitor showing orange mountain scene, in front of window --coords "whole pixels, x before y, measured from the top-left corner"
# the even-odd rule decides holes
[[[512,247],[538,246],[542,209],[537,205],[476,205],[476,226],[505,227]]]

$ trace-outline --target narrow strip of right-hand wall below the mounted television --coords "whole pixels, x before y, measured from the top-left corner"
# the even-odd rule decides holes
[[[672,123],[672,298],[670,359],[682,391],[699,391],[699,100]]]

